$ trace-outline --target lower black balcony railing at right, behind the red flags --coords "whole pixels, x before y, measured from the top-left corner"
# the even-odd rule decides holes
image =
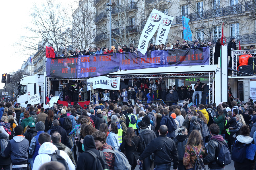
[[[233,37],[236,38],[237,45],[239,45],[239,41],[240,41],[240,44],[256,43],[256,33],[226,37],[226,43],[228,44]],[[218,40],[218,38],[212,39],[212,41],[211,41],[212,44],[215,44],[217,42],[217,40]],[[203,39],[203,40],[199,40],[199,41],[208,43],[209,39]],[[188,41],[188,43],[192,46],[194,44],[194,41]]]

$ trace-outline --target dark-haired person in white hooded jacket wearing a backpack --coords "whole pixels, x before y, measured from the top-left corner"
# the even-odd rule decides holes
[[[66,169],[75,170],[76,167],[68,154],[63,150],[58,150],[58,148],[53,145],[49,134],[41,133],[38,137],[38,143],[40,145],[40,154],[38,154],[34,160],[33,170],[38,170],[41,165],[50,161],[60,162]]]

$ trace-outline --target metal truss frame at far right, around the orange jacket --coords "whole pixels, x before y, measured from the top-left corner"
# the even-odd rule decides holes
[[[235,50],[235,51],[232,50],[231,51],[232,69],[237,70],[239,56],[242,54],[251,54],[253,56],[254,54],[256,54],[256,50]],[[232,71],[232,76],[234,77],[238,76],[238,72]]]

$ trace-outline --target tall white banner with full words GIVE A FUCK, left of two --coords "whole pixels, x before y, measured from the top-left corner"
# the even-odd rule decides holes
[[[148,48],[148,42],[153,37],[154,33],[156,32],[161,20],[162,16],[164,15],[163,12],[153,9],[144,28],[141,33],[138,50],[145,55]]]

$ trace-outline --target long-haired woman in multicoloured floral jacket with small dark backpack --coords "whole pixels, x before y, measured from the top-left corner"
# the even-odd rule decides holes
[[[183,165],[185,165],[187,170],[192,170],[197,161],[197,156],[202,159],[206,155],[207,150],[205,149],[200,132],[198,130],[193,130],[185,145]]]

